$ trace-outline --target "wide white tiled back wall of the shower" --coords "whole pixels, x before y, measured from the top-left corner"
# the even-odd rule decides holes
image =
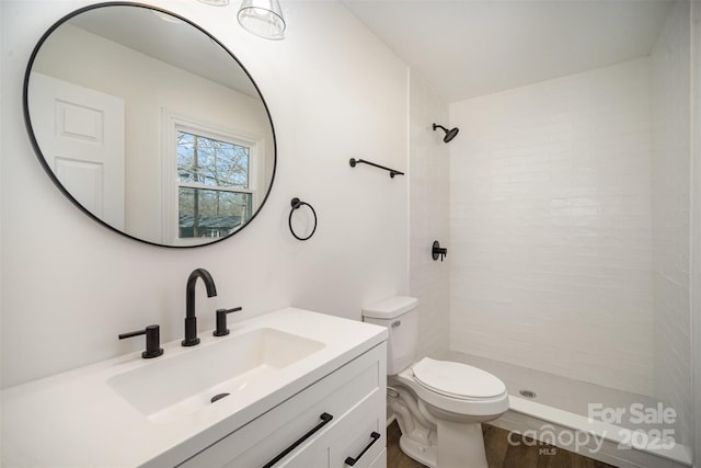
[[[450,105],[450,347],[652,391],[650,60]]]

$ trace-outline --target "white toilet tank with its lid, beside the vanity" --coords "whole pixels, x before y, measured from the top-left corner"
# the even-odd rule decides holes
[[[416,354],[418,313],[415,297],[398,296],[363,309],[363,321],[387,327],[387,374],[395,375],[409,367]]]

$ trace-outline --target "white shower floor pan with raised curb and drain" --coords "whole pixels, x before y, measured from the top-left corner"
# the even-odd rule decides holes
[[[691,467],[679,427],[652,422],[665,411],[656,399],[459,352],[440,357],[480,367],[506,384],[509,411],[490,424],[620,468]],[[600,421],[601,414],[612,422]]]

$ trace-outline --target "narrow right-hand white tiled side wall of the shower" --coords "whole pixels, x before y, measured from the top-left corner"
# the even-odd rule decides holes
[[[654,395],[676,408],[683,443],[692,414],[689,46],[690,4],[677,1],[652,53]]]

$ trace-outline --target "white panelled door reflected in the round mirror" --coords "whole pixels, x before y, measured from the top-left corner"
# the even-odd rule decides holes
[[[37,72],[27,98],[34,135],[61,185],[124,230],[124,100]]]

